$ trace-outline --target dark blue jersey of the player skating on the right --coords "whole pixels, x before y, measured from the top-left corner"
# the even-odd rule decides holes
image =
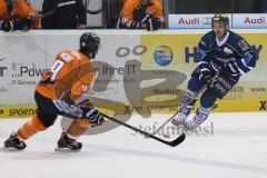
[[[241,76],[255,68],[256,59],[256,52],[248,42],[233,31],[228,31],[222,41],[218,41],[214,31],[209,31],[198,44],[198,66],[202,70]]]

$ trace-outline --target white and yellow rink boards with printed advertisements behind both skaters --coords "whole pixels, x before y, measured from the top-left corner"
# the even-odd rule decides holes
[[[92,60],[97,73],[90,99],[117,115],[172,113],[196,68],[197,44],[207,30],[90,30],[101,38]],[[215,111],[267,110],[267,30],[235,30],[259,55],[257,67],[244,76]],[[36,112],[34,85],[56,55],[77,49],[83,31],[51,30],[0,33],[0,118]]]

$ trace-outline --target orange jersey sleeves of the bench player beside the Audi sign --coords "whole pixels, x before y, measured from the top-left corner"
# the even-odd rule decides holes
[[[140,0],[126,0],[122,7],[121,23],[127,24],[135,21],[134,12],[138,7],[140,7]],[[146,13],[154,18],[159,18],[164,22],[164,10],[159,0],[150,0],[150,6],[147,7]]]

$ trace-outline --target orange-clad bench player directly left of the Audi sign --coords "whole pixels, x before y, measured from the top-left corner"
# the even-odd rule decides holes
[[[164,24],[159,0],[125,0],[117,28],[158,30]]]

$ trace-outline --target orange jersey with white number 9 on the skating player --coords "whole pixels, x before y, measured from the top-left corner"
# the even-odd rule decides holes
[[[52,68],[44,72],[42,80],[37,85],[36,90],[49,99],[75,101],[82,95],[88,93],[95,78],[93,68],[89,58],[76,50],[68,50],[58,53]]]

